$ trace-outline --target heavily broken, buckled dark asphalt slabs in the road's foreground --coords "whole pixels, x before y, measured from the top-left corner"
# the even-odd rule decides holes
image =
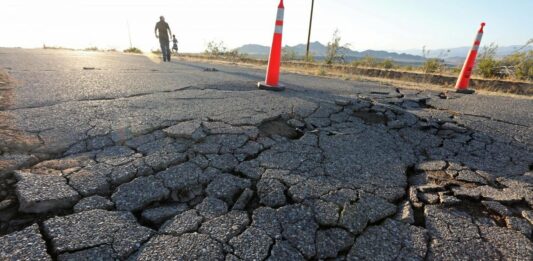
[[[0,235],[38,223],[54,259],[533,257],[531,152],[408,109],[356,99],[255,126],[186,119],[98,148],[89,129],[85,146],[0,176]]]

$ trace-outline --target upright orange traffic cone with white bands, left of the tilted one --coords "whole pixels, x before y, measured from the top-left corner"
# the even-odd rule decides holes
[[[283,91],[285,87],[279,84],[279,71],[281,66],[281,39],[283,35],[283,16],[285,7],[283,0],[279,2],[278,14],[276,18],[276,28],[274,30],[274,39],[272,48],[270,48],[270,57],[268,59],[268,68],[264,82],[258,82],[257,87],[263,90]]]

